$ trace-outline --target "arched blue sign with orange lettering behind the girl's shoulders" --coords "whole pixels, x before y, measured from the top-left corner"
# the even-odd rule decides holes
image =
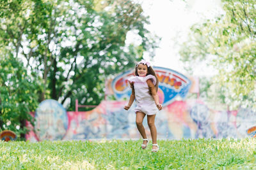
[[[189,80],[189,78],[172,69],[164,67],[153,68],[159,80],[159,90],[157,94],[159,96],[159,101],[163,106],[172,103],[177,96],[180,96],[183,99],[186,97],[189,88],[191,87],[191,80]],[[119,74],[112,81],[111,90],[113,90],[118,101],[129,99],[131,96],[131,88],[129,87],[127,78],[134,75],[134,69],[132,69]]]

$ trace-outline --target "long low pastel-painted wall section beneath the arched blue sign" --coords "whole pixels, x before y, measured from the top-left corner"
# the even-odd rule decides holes
[[[133,104],[130,110],[125,111],[126,103],[127,101],[102,101],[92,111],[67,111],[67,129],[65,124],[62,124],[63,128],[49,128],[47,123],[47,127],[40,126],[38,129],[41,133],[35,133],[33,127],[28,124],[32,131],[26,138],[29,141],[138,139],[140,134],[135,124],[135,106]],[[157,138],[244,138],[255,134],[256,128],[252,128],[256,125],[255,122],[256,113],[251,110],[211,110],[198,99],[173,101],[159,111],[156,117]],[[143,124],[147,135],[150,136],[146,119]],[[42,135],[46,132],[52,134],[49,129],[54,131],[55,135]]]

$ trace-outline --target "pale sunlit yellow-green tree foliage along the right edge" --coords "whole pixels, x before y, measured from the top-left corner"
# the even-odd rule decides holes
[[[198,62],[218,70],[214,84],[225,103],[256,109],[256,10],[255,1],[222,1],[225,15],[191,28],[180,50],[192,71]]]

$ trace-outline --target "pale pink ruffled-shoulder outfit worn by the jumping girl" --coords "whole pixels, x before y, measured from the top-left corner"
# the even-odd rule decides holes
[[[151,74],[145,77],[132,76],[128,78],[128,81],[134,82],[135,99],[137,103],[137,106],[134,110],[135,113],[140,111],[146,115],[155,115],[158,113],[158,109],[153,97],[149,94],[149,88],[147,84],[148,79],[151,79],[154,85],[156,85],[156,78]]]

